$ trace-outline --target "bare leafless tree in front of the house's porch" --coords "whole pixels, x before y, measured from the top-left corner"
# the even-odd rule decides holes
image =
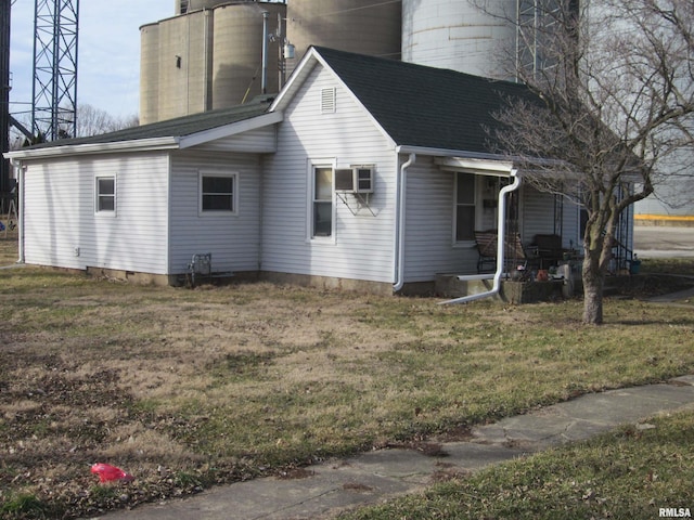
[[[535,101],[512,101],[496,138],[535,172],[528,182],[584,208],[583,322],[601,324],[620,216],[663,176],[691,168],[694,2],[524,4],[531,20],[506,21],[518,35],[513,75]]]

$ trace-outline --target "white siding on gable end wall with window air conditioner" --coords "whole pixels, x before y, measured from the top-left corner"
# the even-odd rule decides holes
[[[336,110],[321,113],[321,90],[337,88]],[[375,187],[368,207],[347,195],[334,197],[331,240],[309,238],[309,161],[338,168],[374,165]],[[371,282],[394,281],[396,154],[370,116],[334,76],[317,67],[279,126],[278,152],[264,179],[262,270]],[[364,199],[365,200],[365,199]]]

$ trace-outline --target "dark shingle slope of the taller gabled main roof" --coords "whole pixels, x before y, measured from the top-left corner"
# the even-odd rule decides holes
[[[485,128],[518,83],[317,47],[318,53],[399,145],[490,153]]]

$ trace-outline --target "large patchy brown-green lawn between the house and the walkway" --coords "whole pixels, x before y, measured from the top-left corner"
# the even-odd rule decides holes
[[[437,303],[0,271],[0,518],[30,518],[17,497],[70,518],[282,474],[694,368],[691,309],[608,300],[584,327],[580,301]],[[97,461],[134,482],[99,485]]]

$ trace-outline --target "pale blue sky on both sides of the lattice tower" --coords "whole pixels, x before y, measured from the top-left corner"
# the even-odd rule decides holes
[[[34,0],[15,0],[12,5],[10,110],[13,115],[30,109],[34,3]],[[139,28],[172,16],[175,2],[81,0],[79,3],[77,104],[89,104],[116,117],[137,115]]]

